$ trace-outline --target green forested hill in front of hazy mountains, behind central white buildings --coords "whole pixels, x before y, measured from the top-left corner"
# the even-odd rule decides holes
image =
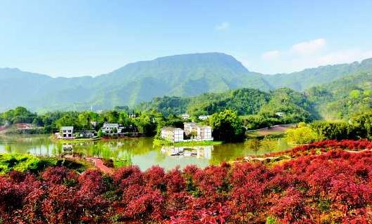
[[[240,116],[252,114],[258,116],[249,117],[249,119],[280,119],[285,123],[318,118],[314,103],[308,99],[306,94],[290,88],[279,88],[268,93],[252,88],[242,88],[225,93],[206,93],[191,98],[154,98],[151,102],[141,103],[136,109],[156,110],[166,116],[187,112],[192,117],[230,109]],[[282,112],[283,116],[279,117],[278,112]]]

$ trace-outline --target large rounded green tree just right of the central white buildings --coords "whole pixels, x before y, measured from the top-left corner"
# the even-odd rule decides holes
[[[232,110],[224,110],[213,114],[209,118],[209,124],[213,129],[213,138],[225,142],[240,142],[244,140],[245,129],[237,113]]]

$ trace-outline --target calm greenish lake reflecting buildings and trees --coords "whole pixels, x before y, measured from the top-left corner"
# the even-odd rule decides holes
[[[267,152],[278,152],[292,147],[285,138],[260,140],[261,146],[252,147],[252,139],[244,143],[225,143],[199,147],[154,147],[153,138],[125,138],[85,143],[58,143],[48,135],[0,136],[0,152],[30,153],[37,156],[59,156],[64,152],[82,153],[88,157],[112,158],[120,164],[135,164],[146,170],[153,165],[165,169],[187,164],[199,167],[228,162]],[[254,150],[256,148],[256,150]]]

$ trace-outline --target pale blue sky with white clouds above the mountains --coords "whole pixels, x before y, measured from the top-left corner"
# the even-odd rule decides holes
[[[371,37],[371,0],[0,0],[0,67],[53,77],[204,52],[294,72],[372,58]]]

